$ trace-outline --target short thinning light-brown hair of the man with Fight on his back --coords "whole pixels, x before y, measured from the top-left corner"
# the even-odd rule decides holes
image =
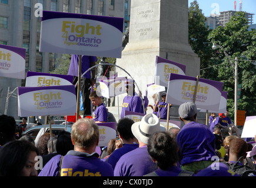
[[[79,119],[72,125],[71,136],[75,145],[91,147],[98,142],[99,127],[92,119]]]

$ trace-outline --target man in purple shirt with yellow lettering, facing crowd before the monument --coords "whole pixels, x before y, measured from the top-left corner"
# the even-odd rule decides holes
[[[131,112],[141,113],[142,100],[139,95],[135,92],[134,80],[127,79],[127,96],[125,96],[122,102],[122,112],[120,118],[122,119],[125,115],[125,110]]]

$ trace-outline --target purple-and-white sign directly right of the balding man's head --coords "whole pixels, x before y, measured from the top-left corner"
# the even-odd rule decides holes
[[[108,122],[108,123],[97,123],[99,126],[99,144],[98,146],[107,146],[109,140],[115,139],[117,136],[115,126],[115,122]]]

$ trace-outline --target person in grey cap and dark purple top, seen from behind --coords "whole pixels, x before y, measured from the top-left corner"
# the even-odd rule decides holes
[[[183,103],[178,112],[179,119],[185,123],[176,139],[181,169],[197,173],[210,166],[212,156],[216,156],[215,136],[206,125],[196,122],[195,103]]]

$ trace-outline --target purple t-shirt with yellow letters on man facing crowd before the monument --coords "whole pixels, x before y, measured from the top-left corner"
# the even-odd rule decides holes
[[[124,117],[125,110],[141,113],[142,100],[138,95],[125,96],[122,102],[122,112],[120,118]]]

